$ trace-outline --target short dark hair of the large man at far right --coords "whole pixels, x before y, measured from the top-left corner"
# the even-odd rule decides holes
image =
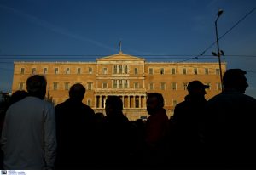
[[[230,69],[224,73],[223,84],[224,87],[236,87],[237,80],[243,78],[247,71],[241,69]]]

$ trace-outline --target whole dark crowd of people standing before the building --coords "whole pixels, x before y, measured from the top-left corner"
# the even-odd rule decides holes
[[[246,73],[226,71],[223,91],[208,101],[209,86],[189,82],[170,119],[163,96],[148,93],[147,121],[129,121],[118,96],[108,96],[106,116],[95,114],[79,83],[54,107],[44,100],[44,76],[31,76],[27,93],[13,93],[1,113],[0,169],[256,169],[256,99],[244,94]]]

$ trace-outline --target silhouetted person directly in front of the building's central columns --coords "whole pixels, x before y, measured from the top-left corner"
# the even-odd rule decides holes
[[[130,122],[123,114],[123,102],[118,96],[108,96],[104,118],[104,164],[120,168],[127,166],[130,154]],[[109,168],[108,167],[108,168]]]

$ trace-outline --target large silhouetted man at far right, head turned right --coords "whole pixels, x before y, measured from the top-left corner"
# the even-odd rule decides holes
[[[256,167],[256,100],[245,93],[247,72],[224,73],[224,91],[207,102],[208,157],[225,168]]]

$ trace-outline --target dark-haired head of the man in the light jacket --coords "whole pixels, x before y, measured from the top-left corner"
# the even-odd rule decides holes
[[[26,80],[28,95],[44,99],[46,93],[46,79],[44,76],[34,75]]]

